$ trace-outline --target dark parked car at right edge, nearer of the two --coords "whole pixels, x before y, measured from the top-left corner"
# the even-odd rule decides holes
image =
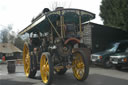
[[[120,70],[122,67],[128,67],[128,48],[125,52],[110,56],[110,62],[112,62],[112,64],[118,70]]]

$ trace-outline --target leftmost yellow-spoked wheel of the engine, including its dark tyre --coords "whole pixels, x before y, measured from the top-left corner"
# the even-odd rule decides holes
[[[35,74],[36,74],[36,69],[32,69],[33,65],[32,65],[32,57],[30,57],[30,54],[29,54],[29,47],[28,47],[28,44],[25,43],[24,44],[24,49],[23,49],[23,63],[24,63],[24,72],[25,72],[25,75],[26,77],[29,77],[29,78],[33,78],[35,77]]]

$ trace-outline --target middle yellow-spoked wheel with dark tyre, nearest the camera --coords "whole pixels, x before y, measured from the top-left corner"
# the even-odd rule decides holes
[[[40,73],[45,85],[49,85],[53,79],[53,65],[49,53],[43,53],[40,60]]]

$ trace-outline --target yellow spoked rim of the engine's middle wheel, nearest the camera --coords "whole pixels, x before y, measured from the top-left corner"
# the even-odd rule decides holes
[[[45,55],[43,55],[41,57],[40,72],[41,72],[42,81],[44,83],[47,83],[48,79],[49,79],[49,63],[48,63],[48,59]]]

